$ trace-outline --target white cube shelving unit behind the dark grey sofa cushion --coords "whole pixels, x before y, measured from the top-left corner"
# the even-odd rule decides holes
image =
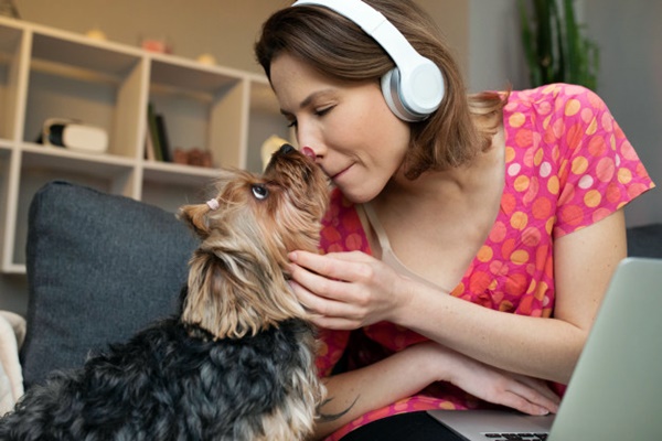
[[[264,140],[289,135],[259,75],[0,18],[0,277],[24,276],[28,207],[51,180],[172,212],[199,200],[213,169],[145,159],[149,103],[170,144],[211,151],[214,168],[257,171]],[[53,117],[106,129],[108,151],[35,143]]]

